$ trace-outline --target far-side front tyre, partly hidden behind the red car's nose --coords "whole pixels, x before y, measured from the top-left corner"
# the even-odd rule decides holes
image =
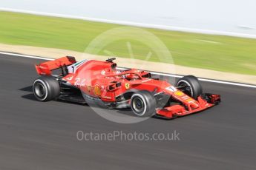
[[[186,75],[177,81],[176,86],[186,95],[197,100],[198,96],[202,95],[203,88],[198,79],[194,75]]]

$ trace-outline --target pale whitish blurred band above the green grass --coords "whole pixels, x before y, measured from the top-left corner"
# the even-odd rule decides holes
[[[1,0],[0,7],[256,35],[255,0]]]

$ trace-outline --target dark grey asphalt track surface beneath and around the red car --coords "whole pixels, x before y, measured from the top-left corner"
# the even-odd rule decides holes
[[[0,56],[0,169],[255,169],[256,89],[202,82],[216,107],[174,120],[114,123],[89,106],[39,102],[40,60]],[[180,140],[79,141],[76,132],[180,133]]]

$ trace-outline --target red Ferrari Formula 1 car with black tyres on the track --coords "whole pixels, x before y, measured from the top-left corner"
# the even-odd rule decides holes
[[[40,78],[33,83],[39,101],[61,99],[79,103],[104,103],[111,108],[131,107],[135,115],[177,118],[220,103],[220,95],[203,93],[193,75],[177,84],[152,78],[138,69],[116,69],[115,58],[106,61],[63,57],[36,65]],[[54,70],[59,69],[59,74]]]

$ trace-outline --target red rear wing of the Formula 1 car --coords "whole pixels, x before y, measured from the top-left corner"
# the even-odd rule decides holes
[[[67,67],[74,63],[76,63],[76,59],[74,57],[66,56],[53,61],[47,61],[39,65],[35,65],[35,67],[36,72],[39,75],[51,75],[52,70]]]

